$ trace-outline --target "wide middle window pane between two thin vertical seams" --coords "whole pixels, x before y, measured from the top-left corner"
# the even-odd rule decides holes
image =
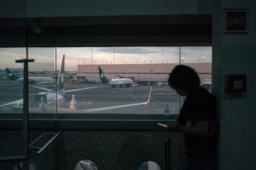
[[[63,55],[66,91],[95,88],[67,92],[57,113],[152,115],[163,114],[166,104],[171,114],[179,113],[179,95],[167,86],[169,71],[179,65],[179,47],[57,48],[58,70]]]

